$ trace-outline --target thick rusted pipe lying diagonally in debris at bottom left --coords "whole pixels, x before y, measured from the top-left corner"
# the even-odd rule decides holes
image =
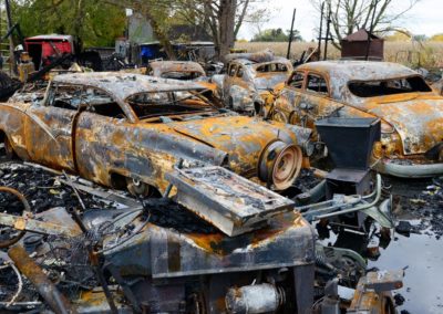
[[[39,294],[55,313],[75,313],[68,299],[60,293],[56,286],[48,279],[43,270],[28,255],[22,245],[14,245],[8,250],[8,255],[19,271],[35,286]]]

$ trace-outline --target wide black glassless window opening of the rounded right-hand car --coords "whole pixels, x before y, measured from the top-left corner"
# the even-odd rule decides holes
[[[431,92],[431,87],[420,76],[404,78],[356,81],[348,84],[358,97],[377,97],[404,93]]]

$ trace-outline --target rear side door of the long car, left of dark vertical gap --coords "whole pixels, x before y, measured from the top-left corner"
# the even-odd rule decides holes
[[[52,83],[42,103],[27,111],[27,142],[30,159],[55,169],[74,171],[73,122],[78,114],[79,86]]]

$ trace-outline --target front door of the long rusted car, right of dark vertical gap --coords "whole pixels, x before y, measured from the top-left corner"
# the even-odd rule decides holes
[[[128,144],[136,133],[124,109],[107,93],[87,87],[75,121],[74,158],[78,172],[111,185],[111,174],[126,176]]]

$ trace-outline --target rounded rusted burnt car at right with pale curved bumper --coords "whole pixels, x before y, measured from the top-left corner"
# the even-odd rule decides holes
[[[324,117],[379,117],[375,169],[396,177],[443,174],[443,97],[394,63],[326,61],[298,66],[266,115],[315,128]],[[346,140],[346,138],[343,138]]]

